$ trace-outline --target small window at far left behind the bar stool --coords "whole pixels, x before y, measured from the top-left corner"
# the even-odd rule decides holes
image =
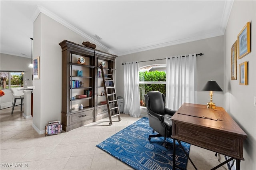
[[[12,87],[23,87],[24,71],[1,71],[0,89],[10,89]]]

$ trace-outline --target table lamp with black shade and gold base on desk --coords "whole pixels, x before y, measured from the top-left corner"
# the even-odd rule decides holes
[[[216,108],[215,103],[212,103],[212,96],[213,96],[212,91],[222,91],[218,83],[212,80],[208,81],[202,90],[210,91],[210,103],[207,103],[207,108],[215,109]]]

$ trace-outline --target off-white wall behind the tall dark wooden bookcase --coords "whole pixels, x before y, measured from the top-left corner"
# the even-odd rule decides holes
[[[40,13],[34,21],[33,50],[34,57],[40,56],[40,79],[34,80],[33,91],[33,127],[40,134],[49,121],[61,121],[62,49],[59,43],[63,40],[81,45],[88,41]]]

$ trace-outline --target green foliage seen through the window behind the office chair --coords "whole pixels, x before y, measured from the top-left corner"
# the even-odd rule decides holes
[[[166,81],[166,73],[164,71],[139,72],[139,81]],[[144,94],[149,91],[160,91],[166,94],[165,84],[140,84],[140,105],[145,106]]]

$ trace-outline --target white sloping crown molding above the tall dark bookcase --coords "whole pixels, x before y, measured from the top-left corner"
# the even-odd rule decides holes
[[[101,43],[97,42],[96,40],[94,40],[93,38],[91,38],[90,36],[88,36],[87,34],[84,34],[84,32],[80,31],[79,29],[77,29],[76,27],[72,26],[71,24],[69,24],[68,22],[66,22],[65,20],[63,20],[62,18],[56,16],[55,14],[53,14],[52,12],[50,12],[49,10],[47,10],[46,8],[42,7],[42,6],[37,6],[36,10],[34,11],[31,20],[34,22],[36,20],[36,18],[39,16],[40,12],[42,12],[43,14],[45,14],[46,16],[52,18],[53,20],[55,20],[56,22],[59,22],[60,24],[62,24],[63,26],[69,28],[70,30],[72,30],[73,32],[75,32],[76,34],[79,34],[80,36],[84,37],[86,40],[88,40],[91,43],[95,43],[98,47],[100,47],[101,49],[103,49],[105,52],[107,53],[113,53],[113,51],[111,51],[108,47],[106,47],[105,45],[102,45]]]

